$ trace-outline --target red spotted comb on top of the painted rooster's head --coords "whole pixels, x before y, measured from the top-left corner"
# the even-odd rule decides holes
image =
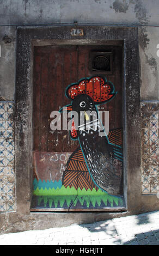
[[[71,100],[80,94],[89,95],[96,104],[111,100],[115,95],[113,83],[101,76],[83,78],[78,83],[70,84],[66,89],[66,96]]]

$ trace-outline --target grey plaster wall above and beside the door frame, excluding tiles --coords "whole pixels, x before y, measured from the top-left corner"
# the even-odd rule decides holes
[[[157,99],[158,1],[148,0],[1,0],[0,1],[0,85],[1,97],[14,100],[16,27],[60,23],[144,25],[139,29],[141,97]],[[149,27],[155,26],[155,27]],[[4,35],[11,42],[6,42]],[[8,75],[9,74],[9,75]],[[146,85],[151,82],[151,87]]]

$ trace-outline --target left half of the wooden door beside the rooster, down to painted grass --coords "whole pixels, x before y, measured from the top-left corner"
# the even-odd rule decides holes
[[[69,103],[65,89],[69,83],[78,80],[77,66],[76,46],[34,47],[32,209],[68,210],[76,197],[75,191],[71,198],[67,194],[56,194],[62,186],[62,173],[66,164],[66,161],[60,160],[60,156],[70,155],[78,143],[70,139],[68,131],[51,130],[50,114]],[[49,186],[51,194],[46,191]]]

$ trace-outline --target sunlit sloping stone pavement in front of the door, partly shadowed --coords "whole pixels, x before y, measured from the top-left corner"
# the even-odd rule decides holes
[[[159,211],[0,235],[0,245],[159,245]]]

